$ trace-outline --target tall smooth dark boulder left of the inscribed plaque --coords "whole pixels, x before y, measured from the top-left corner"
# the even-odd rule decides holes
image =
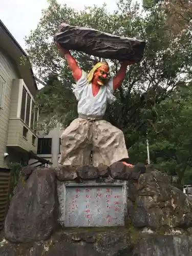
[[[12,242],[48,239],[57,226],[57,204],[54,170],[34,170],[11,200],[5,237]]]

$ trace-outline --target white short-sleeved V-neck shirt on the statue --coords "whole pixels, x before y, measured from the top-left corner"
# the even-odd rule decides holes
[[[101,86],[98,94],[94,97],[92,92],[92,83],[88,83],[86,72],[82,71],[81,78],[77,81],[73,89],[78,100],[78,114],[103,116],[106,110],[106,103],[112,103],[116,100],[113,95],[113,80]]]

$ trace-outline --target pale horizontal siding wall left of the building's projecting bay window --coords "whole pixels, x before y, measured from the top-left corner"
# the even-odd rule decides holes
[[[6,152],[9,116],[11,108],[11,90],[13,79],[18,79],[11,60],[0,49],[0,75],[6,81],[4,108],[0,110],[0,167],[5,167],[4,153]]]

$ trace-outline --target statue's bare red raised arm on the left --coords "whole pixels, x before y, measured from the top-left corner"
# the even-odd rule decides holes
[[[63,57],[65,57],[67,59],[69,68],[72,71],[75,81],[78,81],[81,78],[82,70],[79,68],[77,61],[71,55],[69,50],[61,48],[61,46],[59,44],[57,44],[57,46],[60,49],[60,52],[63,55]]]

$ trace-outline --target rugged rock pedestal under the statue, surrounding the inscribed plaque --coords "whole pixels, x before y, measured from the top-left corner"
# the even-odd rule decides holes
[[[59,221],[65,210],[61,186],[118,182],[126,185],[123,226],[70,228]],[[2,256],[192,256],[188,197],[152,166],[117,162],[98,168],[28,168],[14,193],[0,243]]]

